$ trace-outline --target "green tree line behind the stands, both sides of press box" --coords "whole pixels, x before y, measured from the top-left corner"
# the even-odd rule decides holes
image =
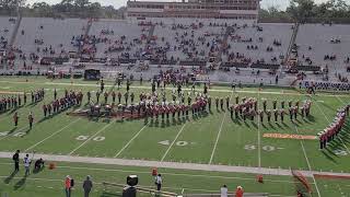
[[[24,16],[38,18],[101,18],[124,19],[126,8],[103,7],[89,0],[62,0],[56,4],[35,2],[26,4],[26,0],[0,0],[0,15],[16,15],[18,8]],[[290,0],[285,10],[276,7],[260,9],[259,20],[262,22],[348,22],[350,23],[350,5],[346,0],[328,0],[316,4],[314,0]]]

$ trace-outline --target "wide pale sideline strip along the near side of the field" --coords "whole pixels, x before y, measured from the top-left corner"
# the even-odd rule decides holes
[[[0,152],[0,158],[11,159],[12,154],[13,152]],[[22,153],[20,157],[23,158],[24,153]],[[56,161],[56,162],[113,164],[113,165],[125,165],[125,166],[145,166],[145,167],[163,167],[163,169],[195,170],[195,171],[209,171],[209,172],[215,171],[215,172],[236,172],[236,173],[249,173],[249,174],[292,176],[291,170],[285,170],[285,169],[209,165],[209,164],[197,164],[197,163],[159,162],[159,161],[126,160],[126,159],[110,159],[110,158],[88,158],[88,157],[55,155],[55,154],[35,154],[35,158],[44,158],[47,161]],[[317,171],[300,171],[300,172],[306,177],[313,177],[314,174],[350,177],[350,173],[334,173],[334,172],[317,172]]]

